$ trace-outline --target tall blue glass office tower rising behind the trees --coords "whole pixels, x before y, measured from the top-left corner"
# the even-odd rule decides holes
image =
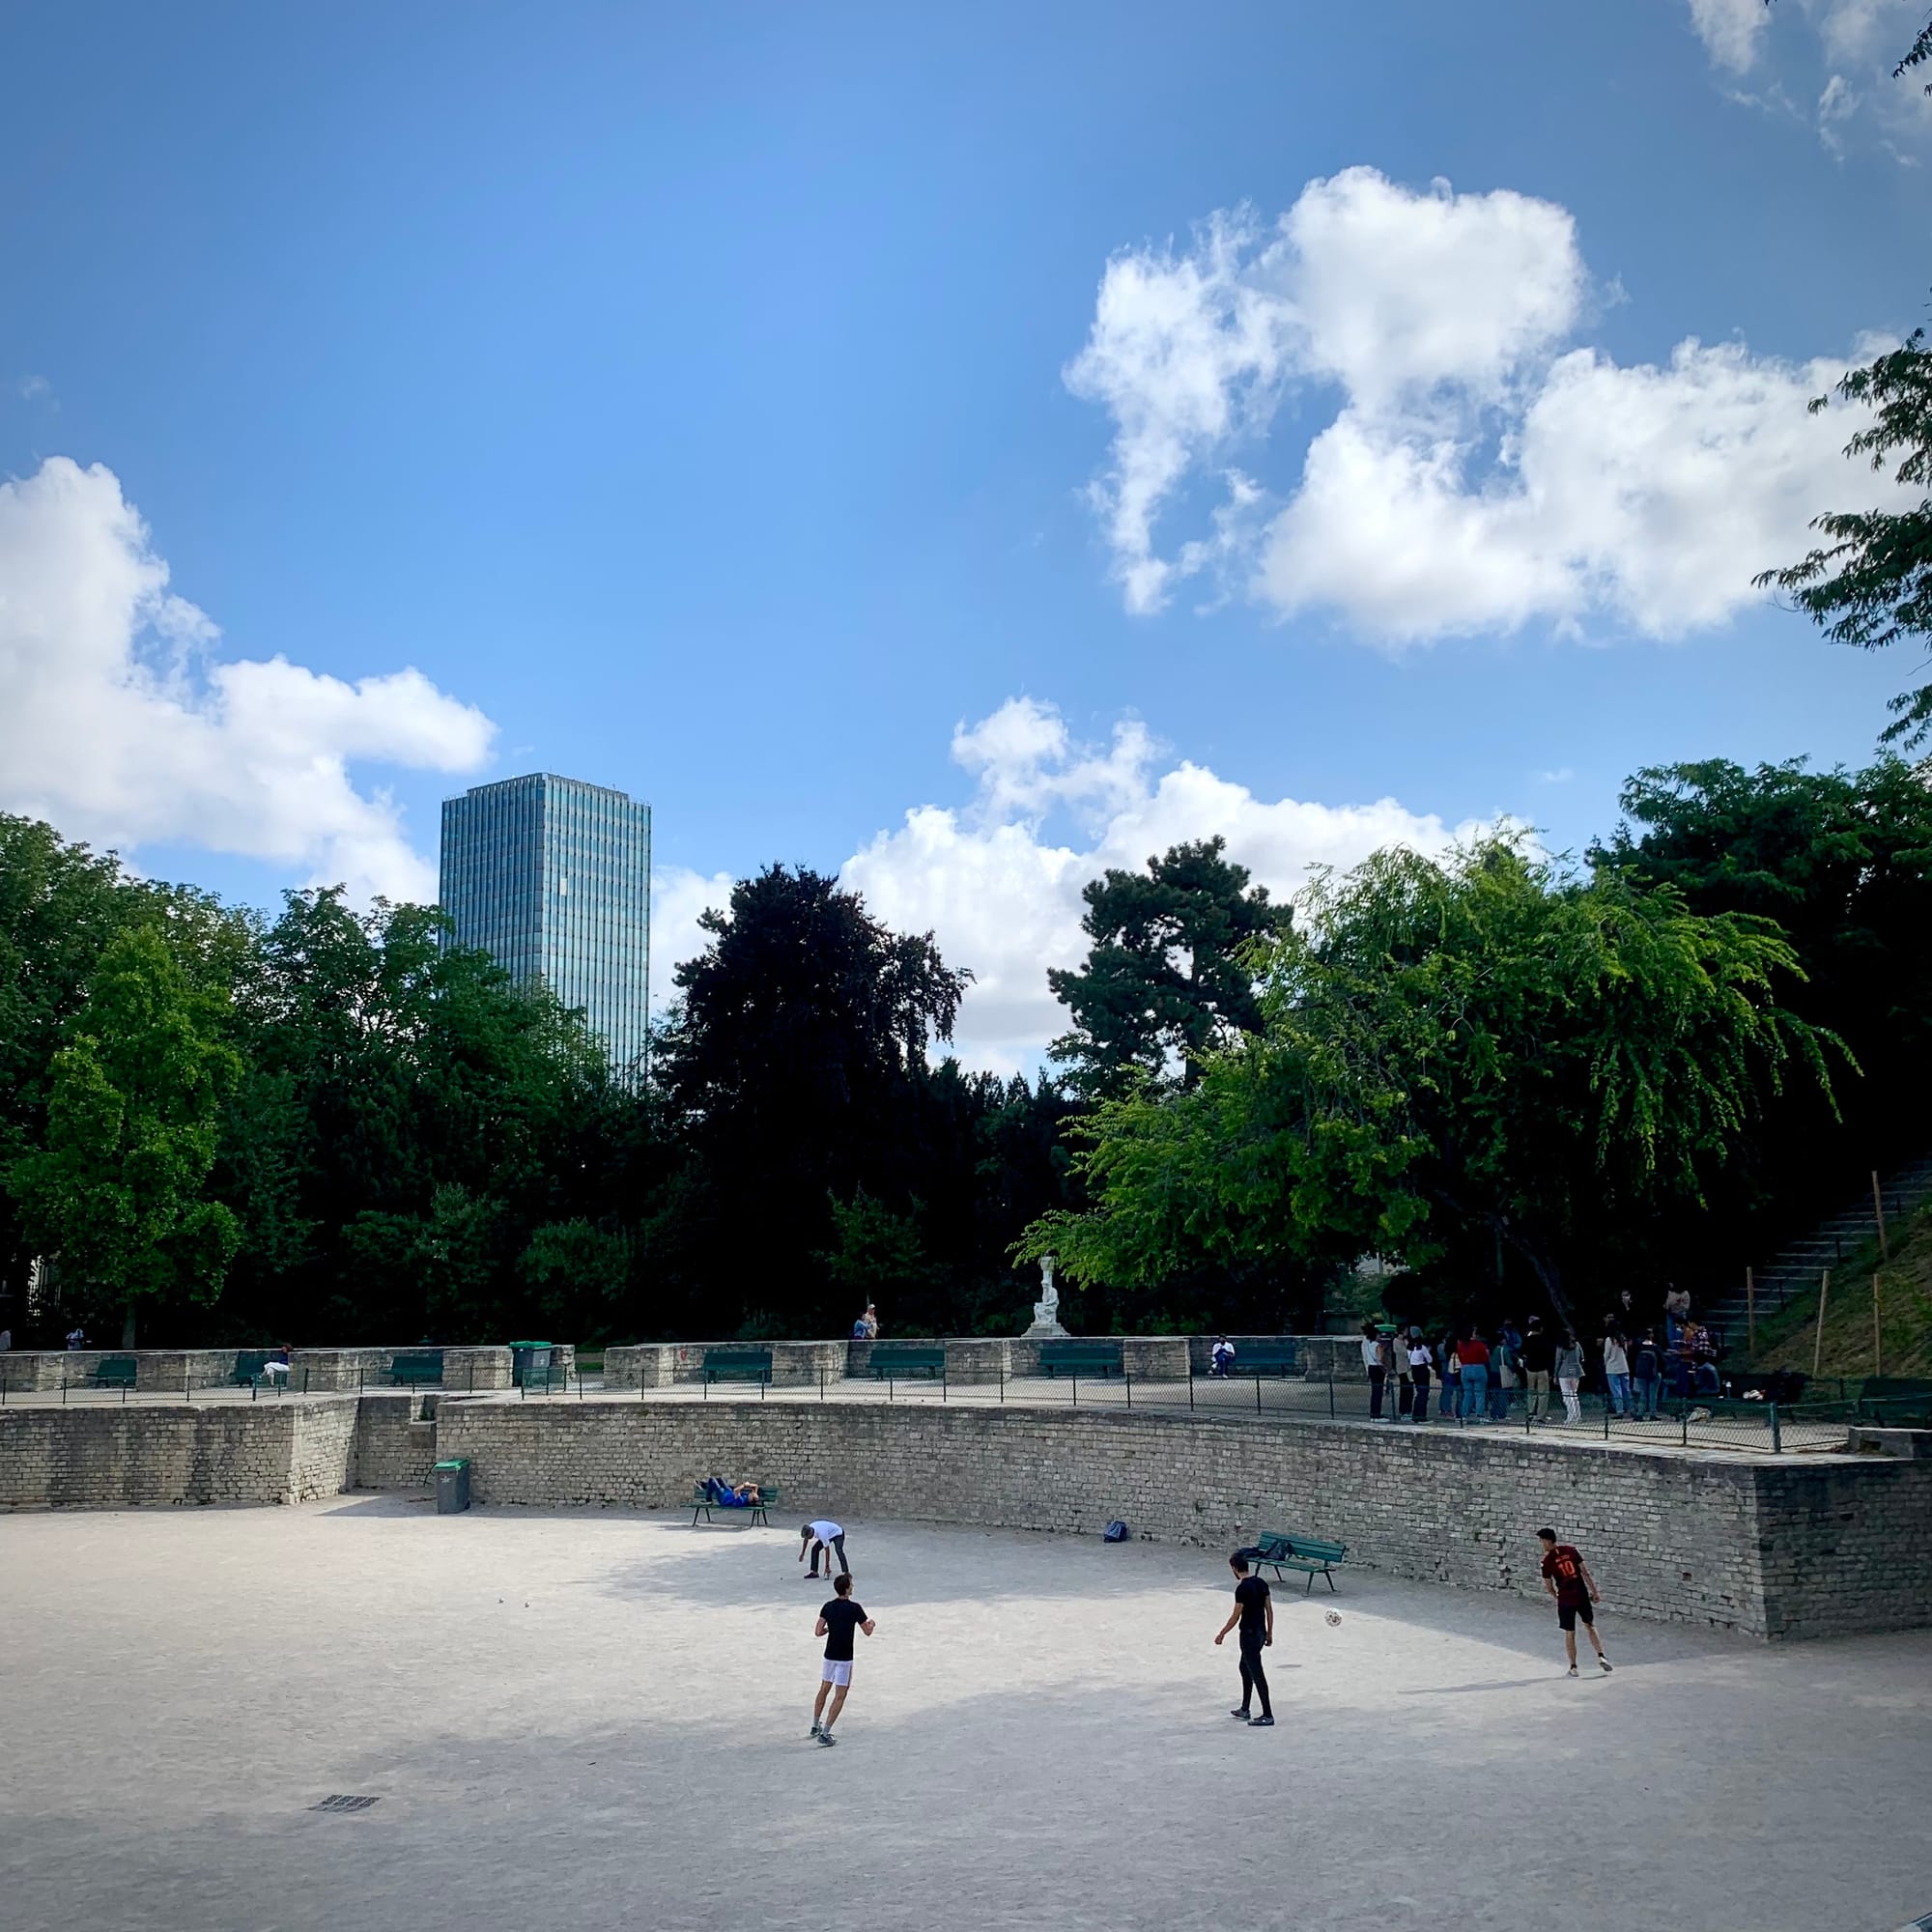
[[[620,1074],[643,1066],[651,808],[539,771],[442,800],[442,910],[514,980],[582,1007]]]

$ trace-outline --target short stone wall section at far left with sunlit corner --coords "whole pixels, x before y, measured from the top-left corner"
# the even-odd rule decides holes
[[[0,1507],[299,1503],[352,1480],[355,1403],[0,1410]]]

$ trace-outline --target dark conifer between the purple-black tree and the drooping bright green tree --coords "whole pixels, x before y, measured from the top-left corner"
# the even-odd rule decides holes
[[[1086,964],[1047,974],[1072,1016],[1047,1051],[1076,1094],[1117,1095],[1167,1072],[1192,1086],[1213,1041],[1262,1024],[1248,952],[1279,912],[1225,852],[1225,838],[1177,844],[1146,873],[1109,867],[1088,883]]]

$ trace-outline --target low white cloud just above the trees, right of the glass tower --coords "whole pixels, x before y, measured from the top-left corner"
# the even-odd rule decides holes
[[[1082,746],[1059,711],[1032,697],[960,726],[952,755],[976,779],[974,798],[914,808],[846,860],[840,879],[887,925],[931,929],[949,962],[974,970],[956,1051],[997,1072],[1036,1065],[1065,1032],[1047,968],[1084,958],[1080,889],[1109,866],[1138,869],[1182,838],[1219,833],[1235,860],[1287,896],[1312,866],[1352,866],[1387,844],[1441,850],[1478,829],[1451,829],[1393,798],[1256,798],[1186,759],[1163,769],[1138,723],[1117,726],[1107,748]],[[1082,827],[1076,840],[1049,837],[1057,806]]]

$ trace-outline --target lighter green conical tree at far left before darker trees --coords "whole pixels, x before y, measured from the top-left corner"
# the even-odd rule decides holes
[[[224,1094],[242,1063],[226,993],[197,989],[155,925],[108,941],[52,1061],[46,1146],[8,1169],[21,1221],[62,1271],[126,1310],[211,1302],[242,1227],[205,1194]]]

